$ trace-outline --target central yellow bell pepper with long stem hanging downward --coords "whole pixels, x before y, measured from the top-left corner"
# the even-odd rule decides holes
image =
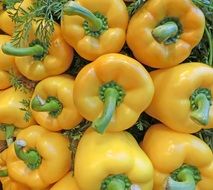
[[[151,102],[149,73],[136,60],[106,54],[87,64],[74,83],[74,103],[99,133],[130,128]],[[102,114],[102,115],[101,115]]]

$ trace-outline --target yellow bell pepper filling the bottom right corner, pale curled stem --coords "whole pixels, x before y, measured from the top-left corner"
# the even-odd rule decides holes
[[[212,190],[213,154],[198,137],[155,124],[140,145],[155,169],[153,190]]]

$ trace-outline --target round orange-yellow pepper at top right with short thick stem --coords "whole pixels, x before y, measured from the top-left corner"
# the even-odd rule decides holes
[[[141,63],[166,68],[190,55],[204,27],[205,17],[191,0],[149,0],[132,16],[126,40]]]

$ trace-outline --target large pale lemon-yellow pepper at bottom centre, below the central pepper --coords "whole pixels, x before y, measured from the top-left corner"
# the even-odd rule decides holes
[[[74,177],[81,190],[152,190],[153,167],[128,132],[82,136],[75,155]]]

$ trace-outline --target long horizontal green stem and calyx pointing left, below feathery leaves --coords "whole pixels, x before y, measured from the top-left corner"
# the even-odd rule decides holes
[[[41,60],[46,54],[46,49],[38,40],[29,44],[29,47],[18,48],[12,43],[7,42],[2,45],[2,51],[7,55],[13,56],[33,56],[35,60]]]

